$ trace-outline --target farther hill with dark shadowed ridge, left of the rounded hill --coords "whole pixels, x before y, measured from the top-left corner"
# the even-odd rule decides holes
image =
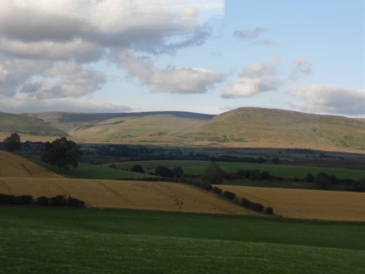
[[[23,113],[87,141],[120,142],[142,136],[165,136],[209,121],[215,115],[184,111],[141,113]]]

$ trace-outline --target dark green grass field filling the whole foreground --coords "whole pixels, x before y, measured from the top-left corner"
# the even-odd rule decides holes
[[[0,273],[364,273],[364,226],[0,207]]]

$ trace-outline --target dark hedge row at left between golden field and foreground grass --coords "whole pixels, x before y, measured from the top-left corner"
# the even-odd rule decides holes
[[[80,199],[66,197],[65,195],[57,195],[51,198],[42,196],[34,200],[32,195],[15,196],[0,193],[0,205],[71,206],[82,208],[85,202]]]

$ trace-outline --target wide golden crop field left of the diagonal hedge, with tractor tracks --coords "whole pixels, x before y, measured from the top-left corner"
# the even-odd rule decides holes
[[[41,196],[66,195],[86,206],[254,215],[214,194],[178,183],[67,178],[0,177],[0,193]]]

